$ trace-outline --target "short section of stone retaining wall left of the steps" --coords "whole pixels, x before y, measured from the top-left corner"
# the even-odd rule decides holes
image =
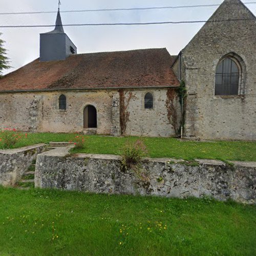
[[[45,144],[0,150],[0,185],[14,185],[27,171],[36,155],[41,153]]]

